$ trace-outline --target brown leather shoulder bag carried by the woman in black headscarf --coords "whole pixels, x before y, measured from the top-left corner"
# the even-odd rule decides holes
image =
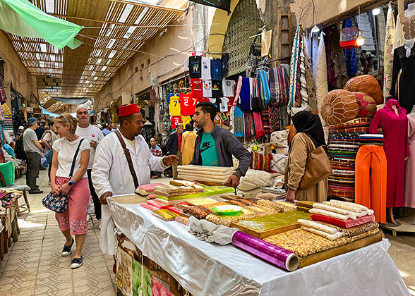
[[[306,135],[308,147],[313,147],[310,137]],[[307,189],[332,174],[332,165],[323,146],[314,149],[307,155],[306,169],[301,178],[300,189]]]

